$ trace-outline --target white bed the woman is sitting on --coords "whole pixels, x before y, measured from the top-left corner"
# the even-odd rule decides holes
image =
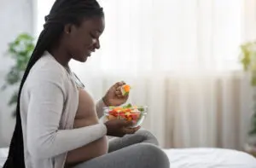
[[[256,168],[253,156],[231,149],[177,148],[163,149],[172,168]],[[7,157],[8,148],[0,148],[0,168]]]

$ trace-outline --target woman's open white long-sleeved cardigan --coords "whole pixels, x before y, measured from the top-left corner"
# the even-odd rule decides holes
[[[26,78],[20,96],[26,168],[63,168],[67,152],[102,136],[103,124],[73,129],[79,92],[66,71],[48,52]],[[96,105],[102,116],[102,101]]]

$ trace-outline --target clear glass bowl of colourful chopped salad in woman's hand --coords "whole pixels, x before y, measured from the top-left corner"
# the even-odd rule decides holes
[[[147,112],[147,106],[131,106],[130,104],[123,107],[103,107],[105,121],[111,119],[133,121],[134,125],[131,125],[131,128],[142,125]]]

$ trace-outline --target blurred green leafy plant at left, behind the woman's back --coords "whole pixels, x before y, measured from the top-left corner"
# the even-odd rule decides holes
[[[15,61],[15,65],[10,67],[5,77],[2,90],[8,87],[12,87],[15,90],[9,99],[9,106],[14,107],[13,115],[15,115],[15,107],[18,98],[19,88],[17,87],[20,85],[20,80],[26,70],[26,64],[32,55],[34,47],[34,39],[28,33],[19,34],[13,42],[9,43],[7,55]]]

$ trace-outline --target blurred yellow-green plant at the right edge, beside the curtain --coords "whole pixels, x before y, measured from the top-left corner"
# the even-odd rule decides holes
[[[256,42],[247,42],[241,45],[241,64],[245,72],[249,72],[251,86],[256,89]],[[253,92],[253,116],[251,129],[248,132],[249,142],[246,151],[256,156],[256,90]]]

